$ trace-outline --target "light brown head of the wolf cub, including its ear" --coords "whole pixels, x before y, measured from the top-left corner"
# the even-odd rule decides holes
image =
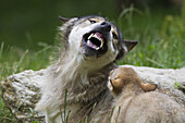
[[[144,83],[132,67],[119,66],[110,72],[108,88],[118,96],[123,87],[128,84],[139,85],[144,91],[151,91],[157,88],[156,84]]]

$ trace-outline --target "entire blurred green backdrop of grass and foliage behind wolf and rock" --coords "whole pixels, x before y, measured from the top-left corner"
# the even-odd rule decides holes
[[[1,0],[0,75],[47,67],[54,59],[59,15],[99,14],[139,44],[118,64],[185,66],[183,0]]]

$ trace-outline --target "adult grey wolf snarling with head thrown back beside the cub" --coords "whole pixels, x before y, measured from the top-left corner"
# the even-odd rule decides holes
[[[47,69],[35,109],[45,113],[46,123],[108,123],[113,102],[109,72],[137,41],[124,40],[115,24],[100,15],[60,20],[59,59]]]

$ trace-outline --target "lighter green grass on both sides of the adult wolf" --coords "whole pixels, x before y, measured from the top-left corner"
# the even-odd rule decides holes
[[[138,11],[130,8],[113,20],[124,38],[139,44],[118,64],[178,69],[185,66],[185,26],[182,15],[169,12]],[[29,40],[28,38],[27,40]],[[12,40],[16,41],[16,40]],[[39,50],[29,50],[0,44],[0,81],[24,70],[40,70],[53,59],[52,46],[39,42]],[[65,112],[66,113],[66,112]],[[15,122],[0,98],[0,122]]]

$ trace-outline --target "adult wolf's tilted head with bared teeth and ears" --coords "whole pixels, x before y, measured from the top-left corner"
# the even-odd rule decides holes
[[[137,41],[126,41],[119,28],[99,15],[60,20],[67,56],[89,64],[107,65],[124,57]],[[89,65],[88,64],[88,65]]]

